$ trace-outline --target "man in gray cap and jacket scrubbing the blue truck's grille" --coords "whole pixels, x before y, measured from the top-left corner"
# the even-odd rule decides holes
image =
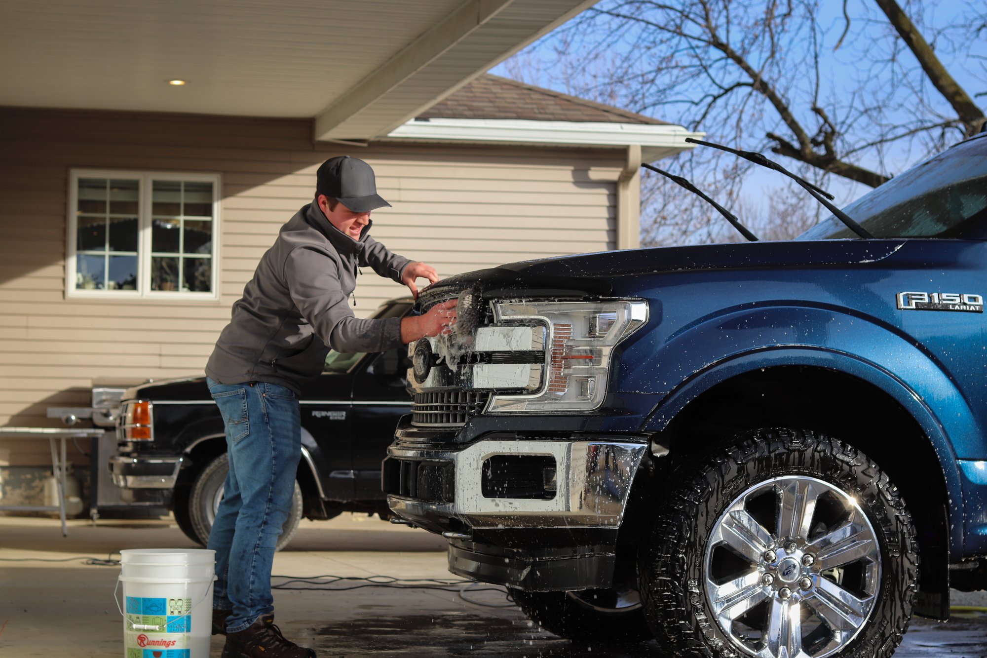
[[[233,304],[205,368],[230,459],[208,542],[216,551],[213,631],[226,634],[223,658],[315,656],[273,625],[270,595],[274,546],[301,456],[302,383],[322,371],[329,347],[384,352],[448,333],[456,319],[455,301],[413,317],[353,315],[347,299],[360,267],[408,286],[415,296],[419,277],[435,283],[438,276],[369,236],[370,211],[390,206],[377,195],[370,165],[332,158],[316,178],[315,201],[281,227]]]

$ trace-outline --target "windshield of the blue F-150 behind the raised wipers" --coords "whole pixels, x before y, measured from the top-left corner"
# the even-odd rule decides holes
[[[876,238],[961,237],[987,208],[987,136],[957,144],[913,167],[844,211]],[[798,240],[856,238],[830,215]]]

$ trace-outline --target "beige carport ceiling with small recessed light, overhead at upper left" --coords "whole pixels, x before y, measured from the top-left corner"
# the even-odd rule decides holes
[[[369,139],[588,4],[0,0],[0,105],[314,118],[316,138]]]

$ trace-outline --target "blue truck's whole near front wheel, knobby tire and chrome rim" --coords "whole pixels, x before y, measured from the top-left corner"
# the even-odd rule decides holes
[[[761,430],[672,476],[640,553],[669,655],[887,657],[915,603],[915,527],[863,452]]]

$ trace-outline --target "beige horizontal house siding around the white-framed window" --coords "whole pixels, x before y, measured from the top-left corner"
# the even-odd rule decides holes
[[[58,426],[46,408],[88,406],[96,377],[200,374],[278,227],[311,201],[316,169],[335,155],[370,162],[394,205],[374,212],[374,237],[441,277],[615,248],[621,150],[358,148],[311,134],[309,121],[0,109],[0,427]],[[219,174],[219,299],[66,298],[73,168]],[[408,293],[365,274],[357,315]],[[44,442],[0,442],[0,466],[48,461]]]

